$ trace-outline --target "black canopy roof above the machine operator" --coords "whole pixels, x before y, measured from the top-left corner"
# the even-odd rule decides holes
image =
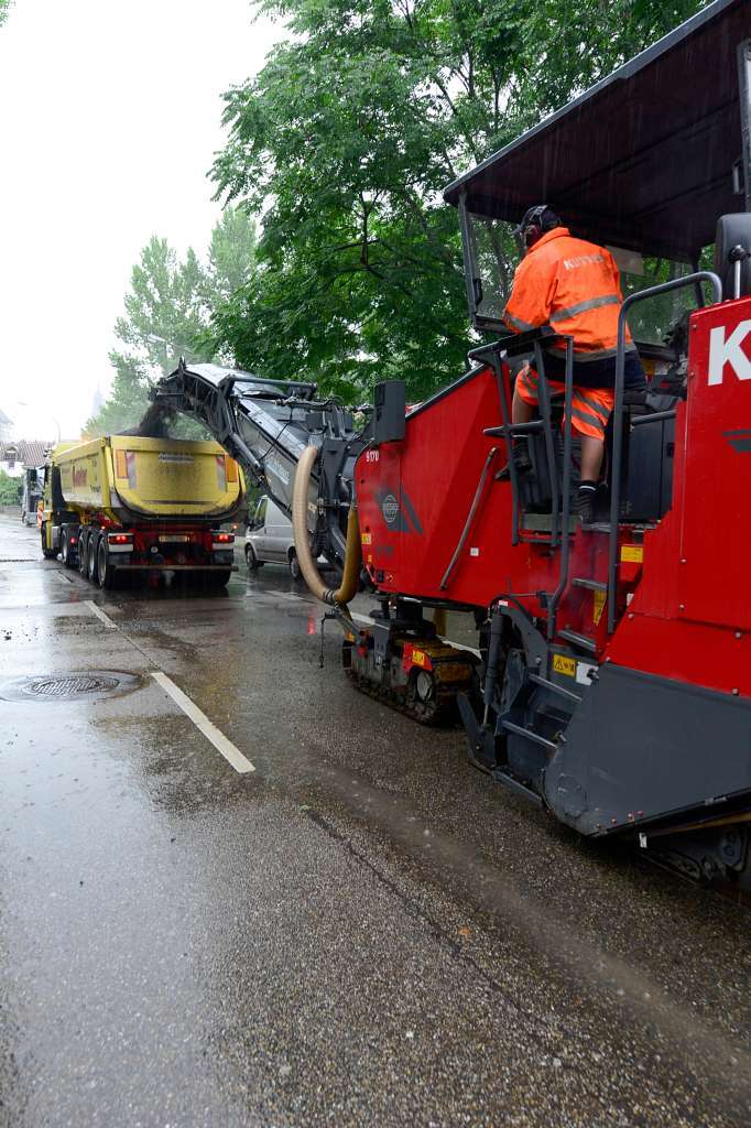
[[[518,222],[547,202],[601,243],[690,258],[743,210],[736,47],[751,0],[715,0],[445,190]]]

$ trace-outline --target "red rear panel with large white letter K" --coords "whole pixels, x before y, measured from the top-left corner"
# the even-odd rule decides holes
[[[691,318],[672,510],[644,537],[642,582],[607,656],[751,695],[751,299]]]

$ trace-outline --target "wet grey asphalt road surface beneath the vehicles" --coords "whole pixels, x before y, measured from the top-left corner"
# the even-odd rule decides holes
[[[318,615],[272,567],[104,593],[0,517],[0,680],[135,676],[0,699],[0,1123],[746,1126],[748,914],[357,696],[334,629],[321,671]]]

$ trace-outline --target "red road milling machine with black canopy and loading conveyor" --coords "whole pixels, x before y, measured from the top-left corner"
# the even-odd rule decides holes
[[[292,513],[360,688],[423,722],[457,711],[471,763],[590,837],[629,836],[751,885],[751,2],[717,0],[451,184],[471,320],[488,343],[365,426],[315,385],[180,365],[158,397],[201,417]],[[609,246],[626,293],[598,520],[573,517],[571,338],[500,319],[510,224],[548,201]],[[703,268],[712,262],[714,270]],[[650,283],[653,284],[650,284]],[[648,390],[624,386],[626,325]],[[514,374],[566,353],[564,403],[512,424]],[[547,394],[546,394],[547,391]],[[533,473],[520,476],[512,439]],[[506,462],[511,479],[497,472]],[[315,571],[343,570],[337,591]],[[346,601],[357,580],[372,624]],[[474,614],[479,659],[426,609]]]

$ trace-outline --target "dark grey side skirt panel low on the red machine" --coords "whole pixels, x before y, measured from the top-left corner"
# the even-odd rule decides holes
[[[604,664],[545,773],[557,818],[597,835],[751,795],[751,702]]]

